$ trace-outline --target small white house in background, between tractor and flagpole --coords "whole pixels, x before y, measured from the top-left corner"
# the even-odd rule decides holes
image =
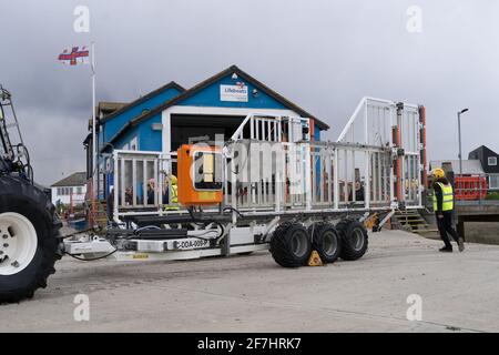
[[[52,190],[52,203],[82,204],[86,194],[86,172],[78,172],[64,178],[50,186]]]

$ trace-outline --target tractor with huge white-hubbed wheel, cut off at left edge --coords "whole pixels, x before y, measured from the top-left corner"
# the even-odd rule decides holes
[[[62,223],[50,191],[33,181],[12,95],[1,85],[0,140],[0,303],[12,303],[47,286],[62,256]]]

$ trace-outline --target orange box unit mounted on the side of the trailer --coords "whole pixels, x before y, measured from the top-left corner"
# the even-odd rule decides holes
[[[185,206],[222,203],[222,151],[183,144],[177,150],[179,202]]]

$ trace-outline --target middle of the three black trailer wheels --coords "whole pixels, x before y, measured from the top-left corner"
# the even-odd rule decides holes
[[[309,229],[312,246],[325,263],[334,263],[342,251],[342,239],[336,229],[329,223],[315,223]]]

